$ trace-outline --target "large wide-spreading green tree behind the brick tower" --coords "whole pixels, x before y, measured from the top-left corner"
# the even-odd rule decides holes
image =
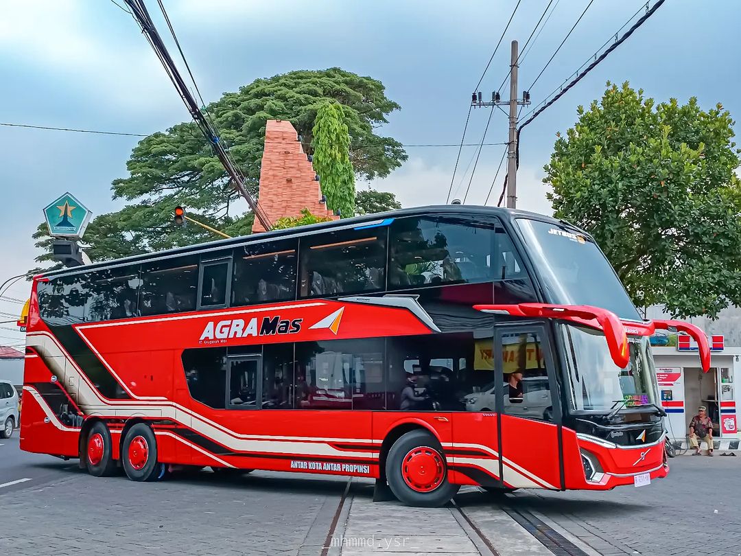
[[[327,102],[342,105],[348,127],[349,159],[360,179],[388,176],[407,159],[402,145],[381,136],[379,127],[399,105],[385,94],[382,82],[338,67],[299,70],[256,79],[207,106],[220,138],[230,147],[245,174],[247,188],[257,193],[260,162],[268,119],[290,121],[312,153],[316,113]],[[197,226],[175,228],[173,209],[187,208],[196,219],[230,235],[250,233],[252,214],[193,122],[153,133],[133,149],[127,162],[129,176],[113,181],[113,199],[127,205],[121,211],[98,216],[87,228],[87,252],[93,260],[124,257],[213,239]],[[48,255],[50,239],[34,235]]]

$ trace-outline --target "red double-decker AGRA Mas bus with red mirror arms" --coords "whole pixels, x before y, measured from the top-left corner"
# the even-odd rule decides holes
[[[33,280],[21,448],[156,480],[177,466],[612,489],[668,472],[648,336],[594,240],[444,206]]]

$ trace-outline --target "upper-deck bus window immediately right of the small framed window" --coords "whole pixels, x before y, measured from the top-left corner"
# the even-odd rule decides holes
[[[232,306],[296,299],[297,240],[234,250]]]

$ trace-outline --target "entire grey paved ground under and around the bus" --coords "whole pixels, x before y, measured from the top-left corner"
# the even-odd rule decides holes
[[[237,480],[202,471],[161,483],[133,483],[124,476],[90,477],[74,461],[24,454],[17,435],[0,444],[2,555],[318,555],[347,484],[336,477],[260,471]],[[430,543],[442,552],[445,541],[456,554],[486,554],[470,528],[455,523],[451,509],[372,503],[371,492],[368,481],[353,482],[337,530],[344,536],[337,538],[376,535],[422,543],[406,546],[406,552],[422,546],[427,552]],[[591,554],[739,556],[740,495],[741,457],[677,457],[670,476],[648,487],[522,491],[506,497],[506,503],[585,543],[594,549]],[[539,549],[526,549],[532,539],[496,499],[465,489],[456,502],[501,554]],[[364,552],[339,548],[348,555]],[[373,552],[391,552],[379,548]]]

